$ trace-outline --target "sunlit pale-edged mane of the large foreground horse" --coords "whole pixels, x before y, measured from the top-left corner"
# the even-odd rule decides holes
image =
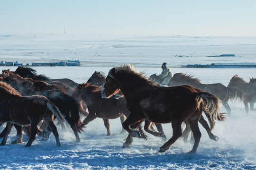
[[[112,73],[112,71],[113,71],[113,69],[111,69],[109,71],[109,76],[113,79],[116,79],[115,76],[113,75],[114,73]],[[148,83],[150,85],[158,85],[157,83],[154,83],[153,81],[146,78],[145,72],[139,72],[136,68],[134,68],[134,65],[131,65],[131,64],[125,64],[120,67],[117,67],[117,68],[115,68],[115,71],[137,76],[138,78],[144,80],[146,83]]]

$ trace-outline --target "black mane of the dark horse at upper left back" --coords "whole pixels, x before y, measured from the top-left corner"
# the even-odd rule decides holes
[[[45,81],[50,79],[46,75],[37,75],[37,71],[35,69],[26,66],[18,66],[14,73],[22,77],[32,78],[33,80]]]

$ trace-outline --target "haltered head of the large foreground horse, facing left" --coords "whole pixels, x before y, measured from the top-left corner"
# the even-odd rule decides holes
[[[116,76],[118,75],[118,71],[116,68],[112,68],[106,77],[106,81],[101,90],[102,98],[110,98],[115,93],[120,91],[119,85],[116,80]]]

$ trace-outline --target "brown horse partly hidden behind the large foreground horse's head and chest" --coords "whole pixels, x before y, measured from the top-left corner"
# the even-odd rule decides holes
[[[111,136],[109,119],[116,119],[122,115],[127,117],[129,111],[126,109],[124,98],[101,98],[101,88],[101,86],[91,85],[91,83],[80,84],[74,90],[73,98],[78,102],[84,101],[88,107],[89,115],[82,123],[87,125],[95,118],[102,118],[108,131],[107,136]]]

